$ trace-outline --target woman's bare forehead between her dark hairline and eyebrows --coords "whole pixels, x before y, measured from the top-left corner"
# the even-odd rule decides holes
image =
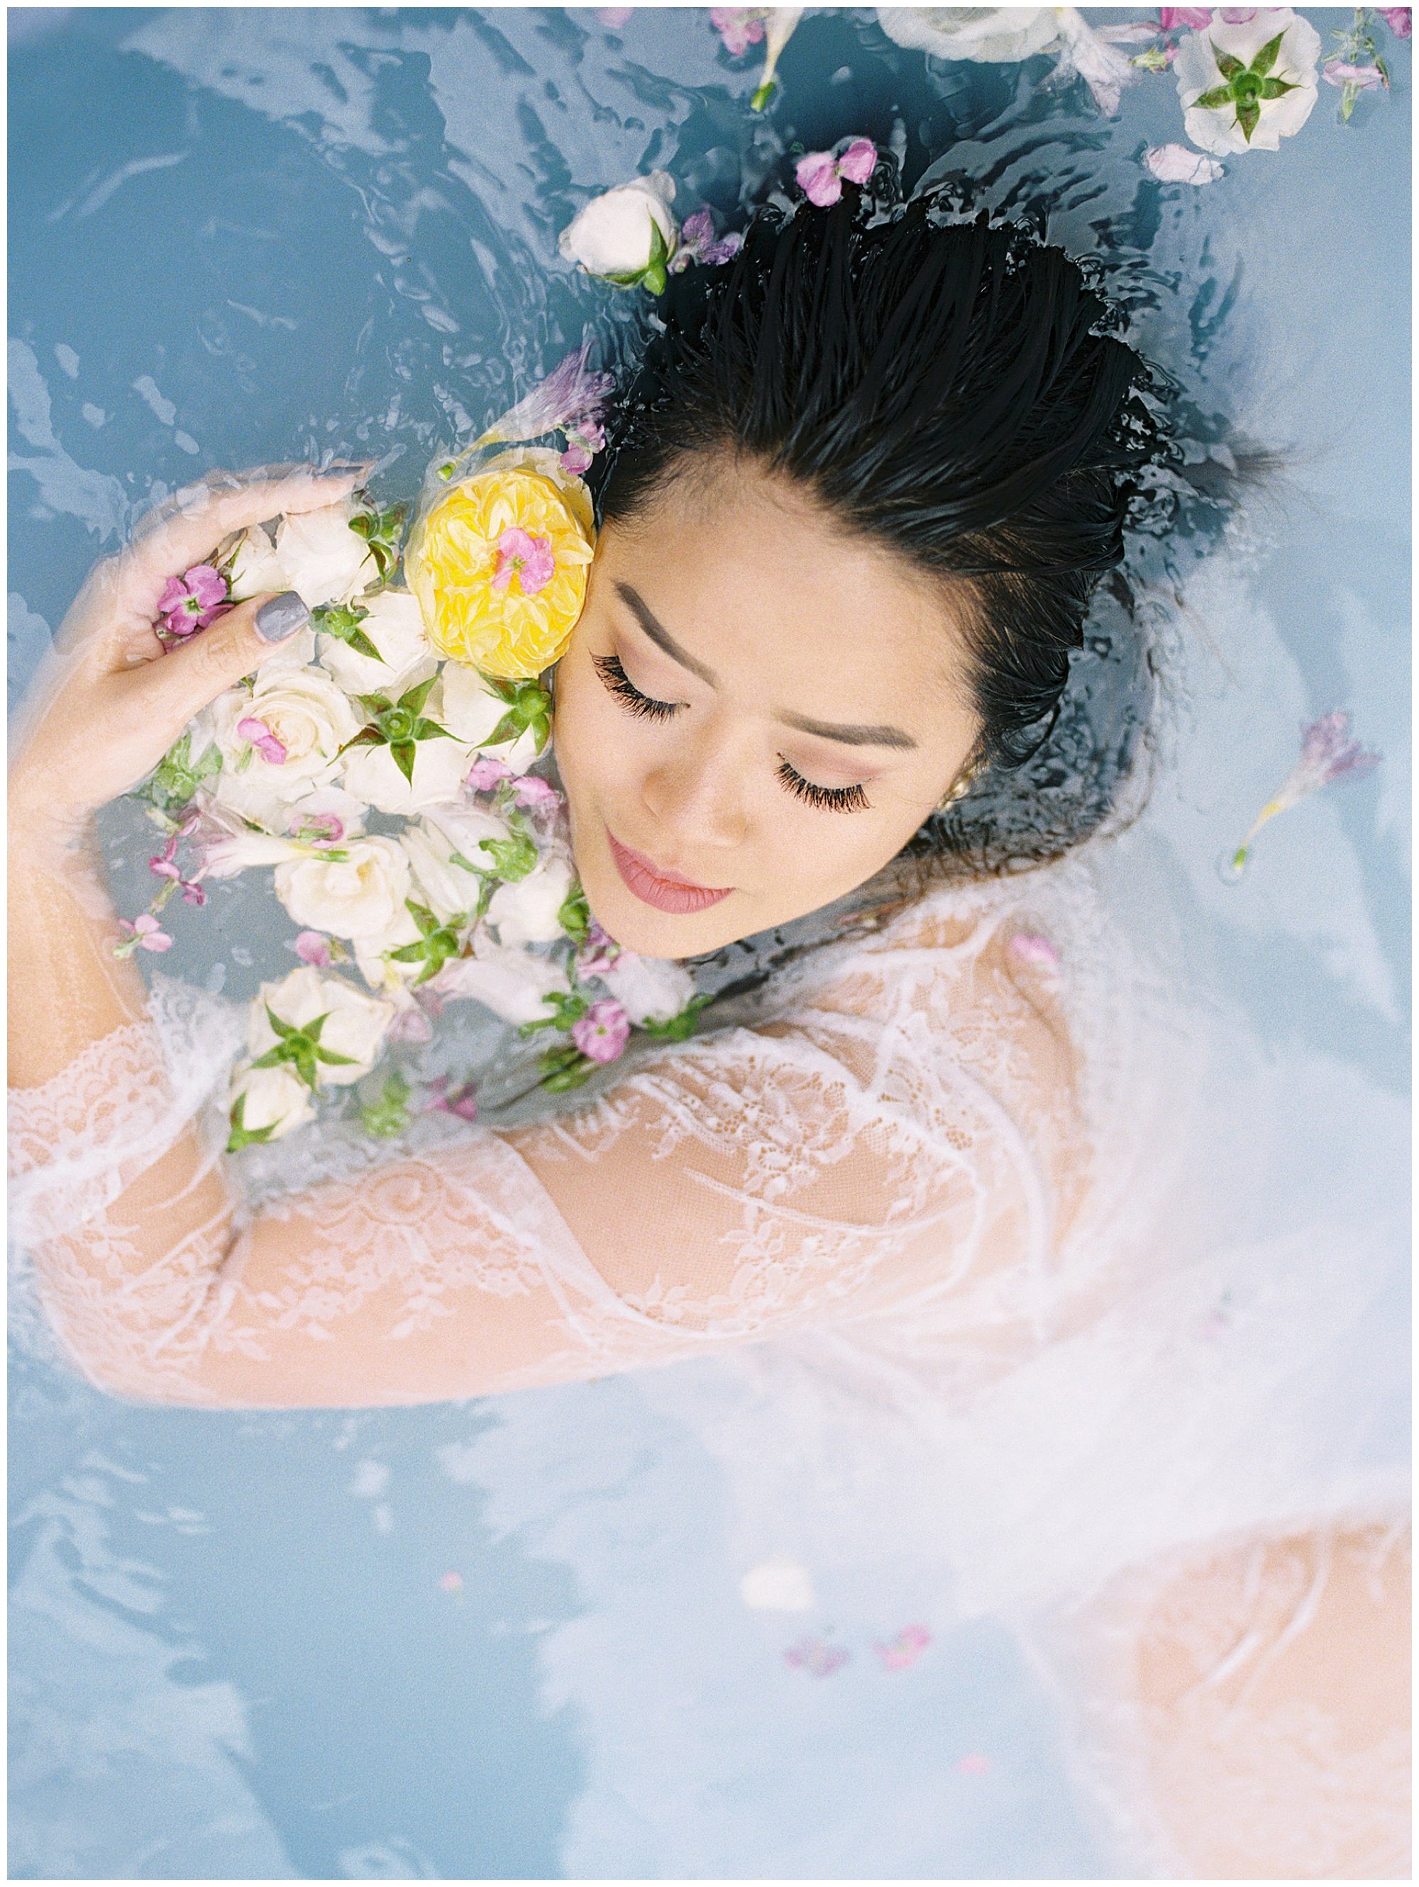
[[[634,523],[606,525],[598,562],[728,687],[777,706],[917,730],[927,706],[966,696],[960,600],[762,472],[670,481]]]

